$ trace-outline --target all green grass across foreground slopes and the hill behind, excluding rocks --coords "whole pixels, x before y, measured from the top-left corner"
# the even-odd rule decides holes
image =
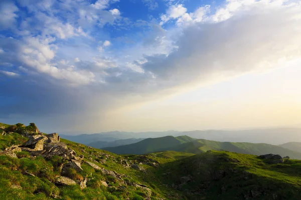
[[[175,137],[173,137],[175,138]],[[171,139],[171,137],[167,137]],[[190,141],[192,139],[192,141]],[[261,151],[261,144],[217,142],[193,140],[180,136],[175,138],[183,148],[200,154],[178,151],[159,151],[145,155],[114,154],[106,150],[89,148],[83,144],[61,139],[84,160],[91,161],[101,168],[115,171],[122,179],[103,174],[83,162],[83,171],[68,171],[74,180],[88,178],[87,188],[79,185],[57,186],[55,178],[60,174],[64,160],[54,156],[50,160],[42,156],[33,157],[28,152],[18,152],[19,158],[0,156],[0,199],[52,199],[59,195],[62,199],[130,199],[147,198],[147,191],[135,187],[133,183],[146,185],[152,190],[150,199],[299,199],[301,195],[301,160],[288,159],[283,163],[270,164],[252,154],[241,154],[221,150],[224,148],[247,152]],[[19,133],[0,135],[1,150],[12,144],[21,144],[27,140]],[[155,140],[156,141],[156,140]],[[166,140],[164,140],[166,142]],[[159,143],[163,144],[163,143]],[[264,146],[264,145],[263,145]],[[149,146],[147,146],[148,148]],[[266,147],[266,146],[265,146]],[[147,149],[146,148],[146,149]],[[155,147],[153,147],[155,148]],[[269,146],[266,147],[269,149]],[[96,161],[99,162],[96,162]],[[106,160],[103,164],[101,161]],[[136,163],[145,171],[124,167],[122,161]],[[158,167],[140,162],[156,162]],[[31,173],[34,176],[28,174]],[[181,184],[181,177],[189,176],[191,181]],[[108,183],[108,187],[102,185]],[[125,184],[127,183],[127,184]],[[12,188],[20,185],[22,189]],[[180,186],[179,186],[180,185]],[[177,187],[177,188],[176,188]],[[192,194],[194,193],[194,194]]]

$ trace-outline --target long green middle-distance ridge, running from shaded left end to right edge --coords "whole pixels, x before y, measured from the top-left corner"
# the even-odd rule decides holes
[[[145,139],[140,142],[124,145],[124,146],[116,146],[116,147],[108,147],[104,148],[108,151],[117,153],[117,154],[145,154],[149,152],[156,152],[162,150],[174,150],[174,151],[183,151],[183,152],[191,152],[191,153],[202,153],[207,150],[228,150],[232,152],[238,153],[246,153],[246,154],[254,154],[261,155],[267,153],[280,154],[281,156],[289,156],[295,159],[301,159],[301,153],[292,151],[281,146],[266,144],[266,143],[248,143],[248,142],[221,142],[221,141],[212,141],[206,139],[193,139],[192,141],[186,140],[186,142],[174,142],[178,137],[159,137],[152,138],[152,140]],[[171,142],[167,141],[168,139]],[[154,142],[156,141],[156,142]],[[156,145],[156,143],[164,144],[169,143],[169,145]],[[147,147],[148,146],[148,147]],[[147,150],[145,150],[147,147]]]

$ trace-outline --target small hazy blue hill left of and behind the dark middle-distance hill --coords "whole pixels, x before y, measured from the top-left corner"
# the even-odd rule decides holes
[[[94,141],[94,142],[88,143],[87,146],[91,146],[93,148],[121,146],[121,145],[136,143],[136,142],[141,141],[143,139],[145,139],[145,138],[118,139],[118,140],[115,140],[115,141]]]

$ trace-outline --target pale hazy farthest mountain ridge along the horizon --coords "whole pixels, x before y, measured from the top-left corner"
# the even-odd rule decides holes
[[[282,128],[262,128],[246,130],[192,130],[192,131],[149,131],[149,132],[124,132],[111,131],[94,134],[64,135],[62,138],[71,141],[89,144],[94,141],[115,141],[128,138],[156,138],[167,135],[180,136],[187,135],[192,138],[203,138],[215,141],[232,142],[252,142],[282,144],[290,141],[301,142],[301,128],[282,127]]]

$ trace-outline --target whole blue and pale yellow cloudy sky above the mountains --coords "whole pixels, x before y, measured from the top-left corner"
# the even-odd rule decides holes
[[[300,125],[300,35],[299,0],[1,0],[0,121]]]

